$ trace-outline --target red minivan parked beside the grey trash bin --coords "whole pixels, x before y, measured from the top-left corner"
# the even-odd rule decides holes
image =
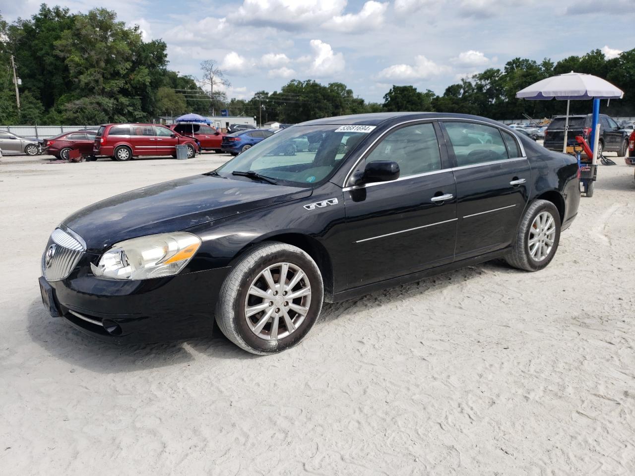
[[[177,145],[187,145],[187,158],[196,154],[196,140],[158,124],[104,124],[95,136],[93,155],[129,161],[144,155],[176,157]]]

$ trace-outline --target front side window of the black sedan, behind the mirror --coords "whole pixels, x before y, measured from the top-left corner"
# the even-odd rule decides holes
[[[400,177],[441,169],[441,154],[434,126],[427,122],[394,131],[366,157],[367,164],[374,161],[397,162]]]

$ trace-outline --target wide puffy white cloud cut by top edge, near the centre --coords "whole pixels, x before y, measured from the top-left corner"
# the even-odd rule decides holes
[[[244,0],[227,18],[245,25],[298,30],[337,17],[345,6],[346,0]]]

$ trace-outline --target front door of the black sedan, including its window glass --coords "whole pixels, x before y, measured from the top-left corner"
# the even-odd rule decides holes
[[[394,161],[399,178],[344,188],[351,246],[347,287],[410,274],[453,260],[457,192],[440,129],[408,124],[382,138],[361,160]]]

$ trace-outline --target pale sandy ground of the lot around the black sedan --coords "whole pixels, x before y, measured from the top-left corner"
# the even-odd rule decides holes
[[[46,313],[39,260],[64,216],[226,159],[1,159],[1,474],[635,474],[622,159],[544,271],[486,263],[326,305],[281,355],[220,335],[113,347]]]

